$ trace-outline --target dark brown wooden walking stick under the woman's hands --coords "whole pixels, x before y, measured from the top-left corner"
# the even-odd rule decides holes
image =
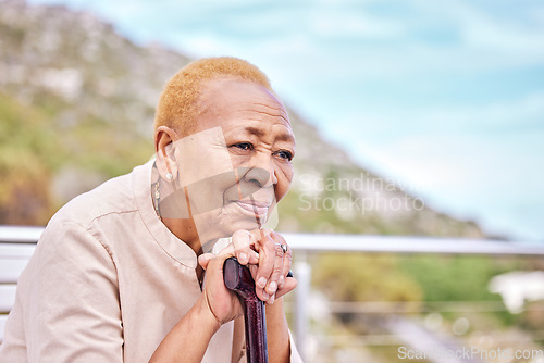
[[[235,291],[244,308],[246,325],[246,358],[248,363],[268,363],[267,320],[264,302],[255,292],[255,281],[247,266],[231,258],[223,265],[225,286]]]

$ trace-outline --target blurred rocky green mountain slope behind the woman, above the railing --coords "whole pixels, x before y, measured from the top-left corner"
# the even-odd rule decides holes
[[[22,171],[13,162],[16,157],[4,157],[11,162],[4,160],[0,167],[10,176],[7,180],[23,173],[28,183],[40,185],[44,202],[32,213],[0,213],[0,223],[44,224],[74,195],[149,159],[160,90],[190,60],[160,45],[134,45],[87,13],[21,0],[0,2],[0,108],[18,110],[10,121],[14,125],[27,125],[35,117],[26,109],[46,125],[15,126],[10,135],[17,137],[2,138],[4,155],[21,147],[22,135],[35,139],[25,153],[41,165],[39,173],[34,167]],[[289,114],[297,135],[297,174],[281,203],[279,229],[483,235],[474,223],[437,213],[364,171],[293,110]],[[2,128],[5,120],[2,114]],[[35,148],[40,142],[47,148]],[[24,200],[34,199],[32,190]],[[4,211],[15,202],[7,200],[0,198]]]

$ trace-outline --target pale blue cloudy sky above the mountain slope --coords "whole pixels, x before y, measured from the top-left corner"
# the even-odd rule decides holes
[[[540,0],[33,0],[139,43],[260,66],[362,166],[486,231],[544,241]]]

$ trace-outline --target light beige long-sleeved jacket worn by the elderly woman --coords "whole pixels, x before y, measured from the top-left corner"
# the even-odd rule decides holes
[[[151,167],[106,182],[51,218],[20,277],[0,362],[147,362],[189,311],[200,295],[197,256],[158,218]],[[202,362],[231,360],[233,329],[219,329]],[[299,361],[293,341],[292,351]]]

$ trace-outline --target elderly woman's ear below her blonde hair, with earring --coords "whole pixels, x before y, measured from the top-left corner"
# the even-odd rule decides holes
[[[166,126],[159,126],[154,132],[156,164],[159,175],[166,182],[177,178],[177,162],[175,160],[175,141],[177,134]],[[172,174],[172,178],[166,177]]]

